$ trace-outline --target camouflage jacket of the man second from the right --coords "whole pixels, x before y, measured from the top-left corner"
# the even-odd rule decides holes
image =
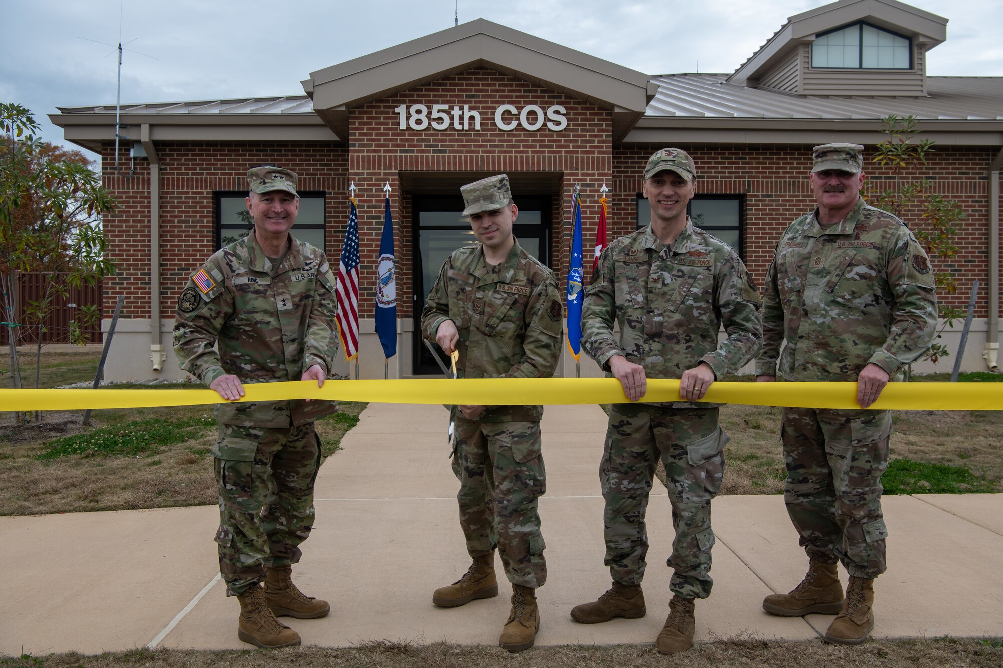
[[[700,362],[722,378],[758,352],[759,304],[758,289],[727,244],[687,219],[666,246],[649,225],[603,250],[585,291],[582,347],[607,371],[610,358],[623,355],[649,378],[679,378]],[[719,344],[722,323],[727,337]]]

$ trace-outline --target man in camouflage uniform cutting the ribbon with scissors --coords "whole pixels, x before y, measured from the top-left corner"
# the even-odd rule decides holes
[[[553,272],[520,248],[519,210],[505,175],[460,189],[477,242],[439,270],[421,313],[425,338],[457,351],[460,378],[549,378],[561,353],[563,309]],[[459,524],[473,563],[435,591],[432,603],[462,606],[497,596],[494,547],[513,585],[499,645],[533,646],[540,629],[536,590],[547,580],[537,498],[546,474],[542,406],[457,406],[452,469],[459,478]]]

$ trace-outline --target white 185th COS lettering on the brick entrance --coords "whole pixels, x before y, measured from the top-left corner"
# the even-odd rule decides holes
[[[394,111],[400,116],[400,129],[410,127],[414,130],[432,129],[480,129],[480,112],[471,109],[468,104],[462,107],[454,104],[398,104]],[[518,126],[523,129],[538,130],[547,124],[547,129],[559,132],[568,126],[567,110],[560,104],[554,104],[544,110],[536,104],[528,104],[522,109],[512,104],[501,104],[494,109],[494,124],[506,131]]]

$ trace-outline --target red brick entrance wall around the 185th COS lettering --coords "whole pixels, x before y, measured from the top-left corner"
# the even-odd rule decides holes
[[[446,104],[468,106],[480,114],[480,129],[424,130],[399,128],[400,116],[394,109],[404,104]],[[494,109],[512,104],[519,109],[529,104],[543,108],[561,105],[568,126],[561,131],[517,126],[503,130],[494,122]],[[418,86],[390,97],[352,109],[349,115],[348,174],[359,189],[359,254],[363,267],[375,264],[383,225],[383,185],[389,182],[400,194],[402,172],[480,172],[484,176],[516,172],[557,172],[564,178],[553,212],[554,270],[562,277],[568,271],[567,249],[571,244],[569,208],[574,185],[598,191],[603,180],[612,179],[612,117],[608,110],[583,103],[553,90],[490,69],[476,68]],[[414,252],[410,193],[396,197],[394,248],[397,265],[397,294],[411,294],[411,262]],[[519,201],[520,194],[513,194]],[[598,210],[591,226],[598,223]],[[586,215],[589,218],[589,214]],[[583,220],[583,225],[587,225]],[[364,284],[368,280],[360,276]],[[360,317],[371,315],[372,305],[361,300]],[[397,315],[411,315],[410,299],[397,301]]]

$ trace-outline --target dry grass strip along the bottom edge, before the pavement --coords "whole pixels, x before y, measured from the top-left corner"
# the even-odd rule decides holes
[[[700,643],[676,656],[661,656],[651,645],[537,647],[509,654],[497,647],[409,641],[362,642],[349,649],[294,647],[282,650],[195,651],[133,650],[99,656],[60,654],[0,660],[0,666],[27,668],[737,668],[739,666],[831,666],[832,668],[953,668],[1003,665],[1003,642],[998,639],[870,641],[859,647],[837,647],[820,641],[779,642],[740,635]]]

